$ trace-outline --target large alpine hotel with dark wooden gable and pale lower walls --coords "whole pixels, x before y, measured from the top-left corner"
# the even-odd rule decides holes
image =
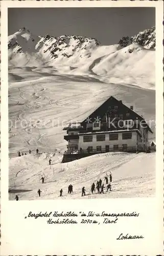
[[[68,141],[64,162],[112,151],[149,152],[148,135],[153,133],[133,106],[112,96],[85,120],[68,123],[63,130]]]

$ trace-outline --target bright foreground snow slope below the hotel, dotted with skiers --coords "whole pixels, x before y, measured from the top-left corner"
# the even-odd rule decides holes
[[[48,161],[52,158],[52,165]],[[10,159],[9,199],[93,199],[150,197],[155,194],[155,153],[128,154],[105,153],[60,164],[60,154],[32,154]],[[59,160],[60,159],[60,160]],[[112,191],[91,194],[90,186],[98,179],[112,173]],[[45,177],[44,184],[41,177]],[[73,194],[68,195],[68,185],[73,185]],[[85,186],[86,196],[81,197]],[[105,185],[106,186],[106,185]],[[41,197],[37,195],[40,188]],[[59,197],[60,189],[63,197]]]

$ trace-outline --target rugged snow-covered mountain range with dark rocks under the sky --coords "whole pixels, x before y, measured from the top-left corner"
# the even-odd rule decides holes
[[[111,46],[84,36],[35,36],[22,28],[9,36],[8,49],[9,67],[51,66],[59,73],[147,88],[155,83],[155,27]]]

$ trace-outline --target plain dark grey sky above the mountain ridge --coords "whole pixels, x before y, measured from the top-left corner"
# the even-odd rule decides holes
[[[8,35],[26,27],[44,36],[81,35],[117,44],[155,26],[155,8],[8,8]]]

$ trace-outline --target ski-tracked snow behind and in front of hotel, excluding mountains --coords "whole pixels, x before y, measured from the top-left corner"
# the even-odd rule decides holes
[[[9,118],[12,121],[9,127],[9,185],[10,189],[21,186],[22,190],[32,190],[15,192],[19,199],[59,199],[61,188],[64,195],[60,199],[83,199],[83,186],[87,194],[84,198],[154,195],[154,153],[106,153],[69,163],[60,162],[66,150],[66,133],[62,129],[67,122],[84,120],[111,95],[128,106],[133,104],[134,110],[147,120],[155,120],[155,91],[113,83],[81,82],[81,78],[79,81],[78,78],[71,81],[68,77],[66,81],[66,75],[63,78],[54,75],[36,79],[33,76],[32,80],[21,68],[17,75],[24,80],[9,82],[9,94],[12,96],[9,97]],[[151,136],[154,139],[155,127],[152,130],[154,134]],[[42,154],[35,154],[36,148]],[[30,149],[31,155],[28,154]],[[18,151],[27,152],[27,155],[17,157]],[[48,165],[50,158],[51,166]],[[113,173],[111,193],[91,195],[91,183],[99,178],[104,181],[105,173],[109,171]],[[40,181],[43,174],[46,176],[45,184]],[[67,186],[71,183],[74,185],[74,193],[67,195]],[[42,191],[40,198],[37,196],[39,188]],[[14,200],[14,197],[9,193],[10,200]]]

